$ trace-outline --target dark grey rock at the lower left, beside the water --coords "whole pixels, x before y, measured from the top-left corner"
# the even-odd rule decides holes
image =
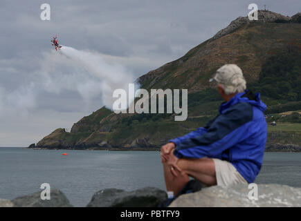
[[[14,207],[71,207],[64,193],[51,189],[51,200],[42,200],[41,191],[12,200]]]

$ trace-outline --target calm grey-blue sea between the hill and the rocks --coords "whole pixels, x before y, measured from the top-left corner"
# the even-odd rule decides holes
[[[301,187],[300,172],[301,153],[265,153],[255,182]],[[101,189],[131,191],[154,186],[165,190],[158,151],[0,148],[0,198],[34,193],[42,183],[60,189],[73,206],[86,206]]]

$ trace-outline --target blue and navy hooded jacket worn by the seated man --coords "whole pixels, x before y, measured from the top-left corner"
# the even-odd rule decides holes
[[[237,93],[219,107],[219,115],[183,137],[174,155],[185,158],[210,157],[231,162],[248,183],[255,180],[262,166],[267,126],[260,94]]]

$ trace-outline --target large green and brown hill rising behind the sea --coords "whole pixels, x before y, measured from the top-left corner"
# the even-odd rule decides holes
[[[282,112],[301,110],[300,15],[293,20],[274,12],[260,11],[259,15],[261,19],[255,22],[239,17],[183,57],[139,77],[141,88],[147,90],[188,88],[186,121],[175,122],[172,114],[116,115],[102,107],[75,123],[70,133],[62,128],[53,131],[37,143],[37,148],[159,148],[172,137],[203,126],[217,114],[222,100],[208,79],[224,64],[241,67],[248,88],[262,93],[268,105],[266,114],[273,115],[268,122],[275,119],[277,128],[281,128],[279,123],[300,125],[300,115],[288,115],[281,121],[279,118]],[[301,146],[300,126],[293,128],[285,133],[269,130],[268,144],[289,142]],[[292,134],[294,138],[288,138]]]

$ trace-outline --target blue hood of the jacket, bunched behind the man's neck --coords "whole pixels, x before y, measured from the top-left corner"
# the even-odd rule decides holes
[[[250,90],[245,90],[243,93],[237,93],[228,102],[222,103],[219,107],[219,113],[224,113],[230,106],[239,102],[247,102],[260,111],[266,111],[266,104],[260,99],[260,93],[253,94]]]

